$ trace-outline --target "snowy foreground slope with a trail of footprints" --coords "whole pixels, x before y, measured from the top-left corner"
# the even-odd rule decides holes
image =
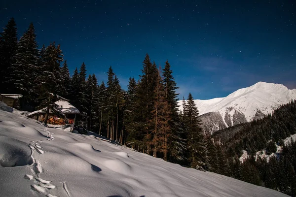
[[[284,197],[0,110],[2,197]]]

